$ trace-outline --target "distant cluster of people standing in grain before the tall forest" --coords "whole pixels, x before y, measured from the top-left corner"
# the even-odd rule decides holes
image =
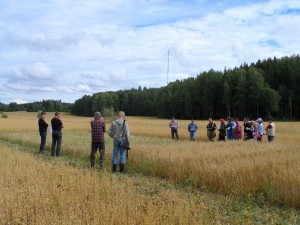
[[[220,119],[220,125],[216,125],[213,122],[212,118],[208,119],[208,124],[206,126],[207,137],[209,141],[214,141],[217,136],[217,131],[219,131],[218,141],[225,141],[226,136],[228,140],[257,140],[262,141],[263,135],[268,136],[268,141],[272,142],[275,138],[275,124],[272,119],[269,119],[268,125],[264,128],[263,120],[258,118],[256,121],[250,121],[249,118],[244,118],[244,134],[242,125],[239,122],[238,118],[227,117],[227,124],[225,123],[225,119]],[[171,122],[169,124],[171,128],[172,139],[178,140],[178,121],[175,117],[172,117]],[[192,119],[191,123],[188,125],[188,132],[190,134],[190,140],[196,140],[196,133],[198,130],[198,125]]]

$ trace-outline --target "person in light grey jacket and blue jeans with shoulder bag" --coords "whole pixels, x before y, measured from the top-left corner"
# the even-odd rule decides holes
[[[130,131],[127,121],[125,120],[125,113],[118,112],[118,118],[113,121],[108,130],[108,135],[114,139],[113,158],[112,158],[112,171],[117,170],[118,157],[120,154],[120,172],[124,173],[124,166],[126,163],[126,149],[121,146],[122,139],[126,138],[129,141]]]

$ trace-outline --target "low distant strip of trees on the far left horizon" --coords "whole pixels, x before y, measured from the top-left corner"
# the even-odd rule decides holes
[[[71,103],[64,103],[61,100],[43,100],[39,102],[32,103],[22,103],[18,104],[16,102],[11,102],[9,104],[0,103],[0,111],[27,111],[27,112],[70,112],[72,108]]]

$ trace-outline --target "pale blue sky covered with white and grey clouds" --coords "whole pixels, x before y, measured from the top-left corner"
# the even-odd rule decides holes
[[[0,102],[162,87],[299,54],[299,37],[299,0],[0,0]]]

